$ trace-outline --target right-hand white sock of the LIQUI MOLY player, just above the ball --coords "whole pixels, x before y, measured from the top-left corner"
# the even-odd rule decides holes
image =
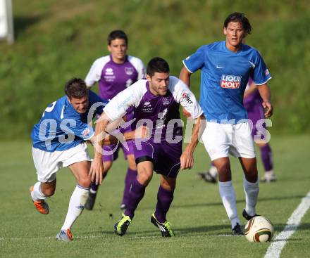
[[[250,216],[254,216],[256,214],[257,198],[259,197],[259,180],[256,183],[251,183],[244,177],[243,189],[245,193],[245,211]]]

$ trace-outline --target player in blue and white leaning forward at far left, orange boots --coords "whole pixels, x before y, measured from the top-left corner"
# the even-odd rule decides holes
[[[51,103],[32,129],[32,157],[38,181],[30,187],[30,191],[37,210],[42,214],[49,214],[49,205],[45,199],[54,195],[56,172],[61,167],[71,170],[77,186],[71,195],[65,222],[56,236],[58,240],[70,242],[70,228],[84,209],[91,179],[96,183],[102,181],[100,172],[89,173],[90,158],[85,141],[92,141],[94,130],[87,120],[91,122],[93,115],[100,115],[108,101],[88,91],[82,79],[70,79],[65,91],[66,96]],[[133,136],[133,131],[128,132],[125,139]],[[118,139],[115,136],[108,136],[104,139],[104,144],[116,141]]]

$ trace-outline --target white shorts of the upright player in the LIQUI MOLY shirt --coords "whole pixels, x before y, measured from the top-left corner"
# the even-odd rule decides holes
[[[240,124],[206,122],[202,141],[212,161],[228,157],[228,154],[235,157],[255,157],[254,142],[247,122]]]

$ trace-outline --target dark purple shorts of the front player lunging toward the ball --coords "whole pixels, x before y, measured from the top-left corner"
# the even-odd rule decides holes
[[[133,150],[135,160],[139,162],[149,160],[154,164],[154,171],[168,177],[176,177],[180,170],[182,141],[179,143],[154,143],[154,139],[134,141]]]

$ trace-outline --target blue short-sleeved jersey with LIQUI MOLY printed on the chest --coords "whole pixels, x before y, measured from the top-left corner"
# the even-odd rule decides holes
[[[205,45],[183,64],[189,72],[202,70],[199,104],[211,122],[236,124],[247,119],[243,93],[249,77],[257,85],[271,79],[259,51],[244,44],[237,53],[228,50],[225,41]]]

